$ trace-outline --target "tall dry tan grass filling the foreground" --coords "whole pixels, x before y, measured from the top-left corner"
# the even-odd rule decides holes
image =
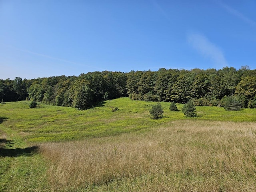
[[[256,123],[175,121],[40,151],[55,191],[256,191]]]

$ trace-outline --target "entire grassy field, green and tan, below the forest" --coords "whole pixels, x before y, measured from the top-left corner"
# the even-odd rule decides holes
[[[187,118],[161,102],[152,120],[152,102],[128,98],[29,103],[0,105],[0,191],[256,191],[255,109]]]

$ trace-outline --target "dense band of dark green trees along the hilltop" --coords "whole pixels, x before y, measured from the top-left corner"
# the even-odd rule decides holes
[[[0,101],[34,100],[79,110],[103,100],[129,96],[133,100],[186,103],[196,106],[221,106],[232,97],[243,108],[256,108],[256,70],[161,68],[156,72],[88,72],[80,76],[52,76],[27,80],[0,79]]]

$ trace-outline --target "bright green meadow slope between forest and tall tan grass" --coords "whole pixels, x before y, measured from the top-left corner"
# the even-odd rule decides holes
[[[8,118],[2,125],[15,130],[26,142],[58,142],[91,137],[113,136],[130,132],[144,132],[174,120],[189,119],[181,112],[169,110],[170,103],[161,102],[164,118],[150,119],[154,102],[119,98],[103,102],[88,110],[40,104],[29,108],[30,102],[7,102],[0,105],[0,114]],[[112,112],[114,107],[119,110]],[[226,111],[220,107],[196,107],[195,120],[256,122],[255,109]]]

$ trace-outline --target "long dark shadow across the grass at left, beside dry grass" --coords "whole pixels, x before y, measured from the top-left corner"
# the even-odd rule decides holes
[[[37,152],[38,146],[27,148],[5,149],[0,148],[0,156],[3,157],[18,157],[18,156],[31,156],[33,152]]]

